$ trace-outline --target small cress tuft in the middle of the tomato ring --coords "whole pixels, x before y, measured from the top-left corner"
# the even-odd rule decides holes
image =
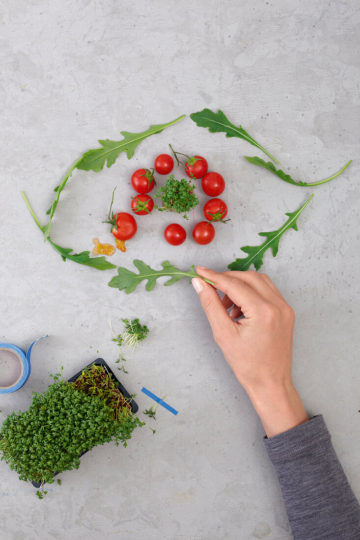
[[[184,213],[184,219],[189,219],[186,212],[193,210],[199,204],[199,199],[194,194],[195,189],[196,186],[190,184],[185,178],[176,180],[174,174],[171,174],[165,185],[159,187],[154,195],[154,198],[162,200],[163,206],[154,206],[154,208],[160,212]]]

